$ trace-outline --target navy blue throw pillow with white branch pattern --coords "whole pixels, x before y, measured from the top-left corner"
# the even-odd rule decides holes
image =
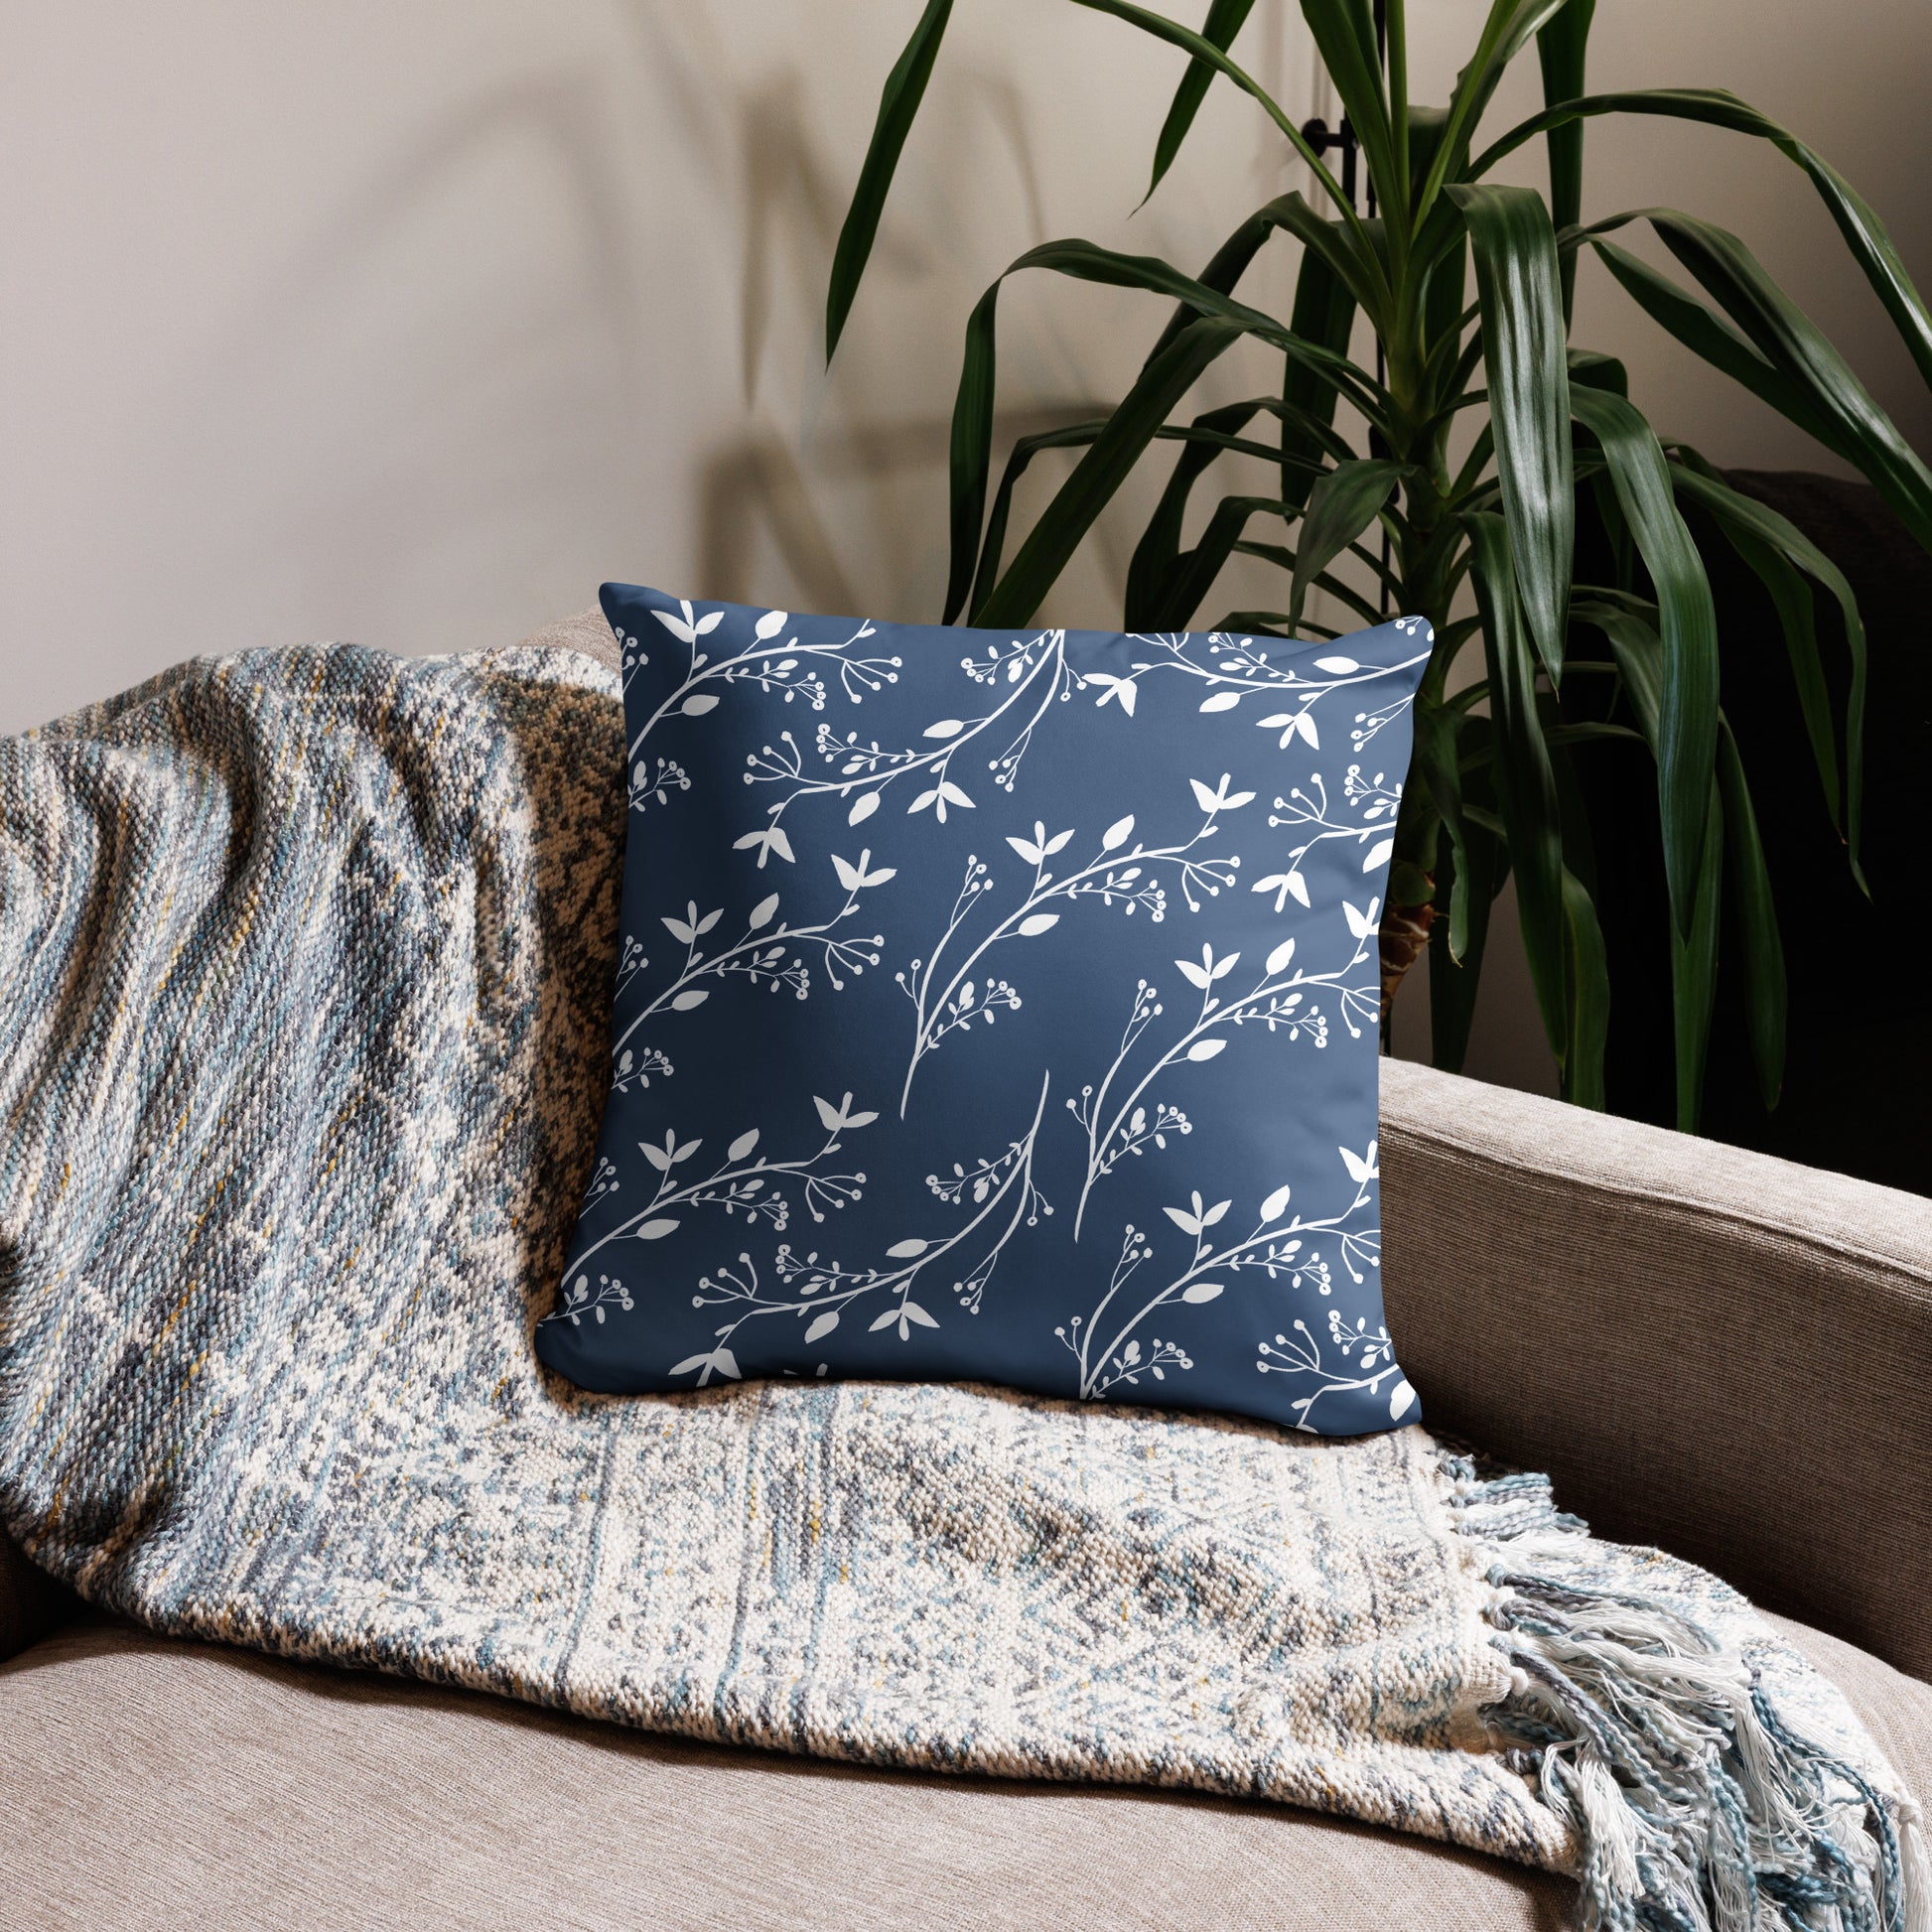
[[[630,838],[551,1368],[1416,1416],[1378,1271],[1376,925],[1428,624],[603,609]]]

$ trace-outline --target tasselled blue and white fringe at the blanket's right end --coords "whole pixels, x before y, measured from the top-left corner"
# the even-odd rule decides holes
[[[1544,1476],[1447,1459],[1509,1660],[1480,1718],[1577,1835],[1590,1932],[1932,1932],[1924,1820],[1662,1598],[1607,1586]]]

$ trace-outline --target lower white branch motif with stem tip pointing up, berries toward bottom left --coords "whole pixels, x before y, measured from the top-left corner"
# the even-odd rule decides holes
[[[759,1316],[810,1318],[804,1333],[810,1345],[831,1335],[852,1304],[867,1296],[889,1302],[867,1323],[867,1333],[896,1329],[900,1341],[910,1341],[914,1327],[939,1327],[939,1318],[912,1298],[912,1289],[935,1264],[949,1260],[960,1269],[952,1279],[952,1294],[962,1308],[978,1314],[1007,1242],[1022,1225],[1036,1227],[1043,1215],[1053,1213],[1053,1208],[1034,1186],[1034,1146],[1039,1138],[1039,1119],[1045,1113],[1051,1080],[1051,1072],[1041,1078],[1032,1122],[1018,1140],[1009,1142],[999,1159],[976,1161],[972,1169],[956,1165],[951,1180],[941,1180],[937,1175],[925,1177],[925,1184],[941,1202],[964,1206],[966,1196],[972,1196],[974,1213],[964,1225],[937,1240],[923,1236],[896,1240],[885,1250],[889,1265],[879,1267],[844,1267],[838,1260],[821,1260],[817,1250],[800,1256],[790,1242],[781,1242],[773,1260],[777,1279],[769,1287],[759,1277],[752,1256],[740,1254],[736,1264],[724,1264],[699,1277],[697,1293],[692,1296],[694,1308],[736,1308],[738,1312],[713,1331],[711,1349],[686,1356],[672,1366],[670,1374],[696,1374],[699,1389],[715,1374],[738,1379],[740,1368],[732,1339],[746,1321]],[[819,1105],[823,1107],[823,1101]],[[875,1115],[854,1117],[852,1124],[862,1119],[871,1121]]]

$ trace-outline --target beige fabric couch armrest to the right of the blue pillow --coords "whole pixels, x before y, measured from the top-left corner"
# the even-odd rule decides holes
[[[1426,1420],[1932,1677],[1932,1202],[1381,1063]]]

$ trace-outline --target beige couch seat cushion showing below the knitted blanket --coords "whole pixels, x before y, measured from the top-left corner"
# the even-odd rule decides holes
[[[1932,1687],[1781,1625],[1918,1789]],[[0,1926],[1571,1922],[1569,1884],[1308,1812],[713,1750],[122,1625],[0,1667]]]

